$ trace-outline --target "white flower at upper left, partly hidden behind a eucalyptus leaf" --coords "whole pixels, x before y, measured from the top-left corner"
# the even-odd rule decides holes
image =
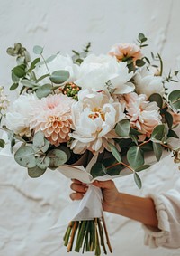
[[[50,74],[53,71],[59,71],[59,70],[68,71],[70,74],[70,77],[68,78],[67,81],[69,82],[75,81],[76,78],[78,77],[79,66],[73,63],[73,60],[69,55],[63,56],[58,53],[57,56],[51,62],[47,63],[47,66]],[[37,65],[35,69],[35,73],[37,78],[40,78],[44,74],[48,74],[46,65],[44,63],[41,65]],[[49,83],[49,77],[43,79],[42,81],[43,83]]]

